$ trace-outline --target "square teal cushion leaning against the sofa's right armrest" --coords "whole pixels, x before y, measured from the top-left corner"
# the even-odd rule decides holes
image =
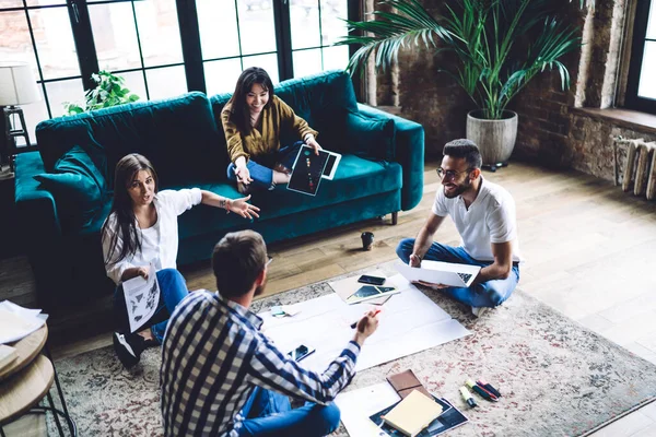
[[[345,132],[350,152],[354,155],[373,161],[396,158],[394,120],[374,119],[360,113],[349,113]]]

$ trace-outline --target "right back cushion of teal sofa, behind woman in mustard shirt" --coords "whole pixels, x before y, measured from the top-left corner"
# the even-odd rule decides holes
[[[358,102],[351,76],[343,70],[331,70],[301,79],[290,79],[274,86],[276,95],[294,109],[297,116],[319,131],[319,143],[332,151],[343,152],[343,134],[348,113],[358,113]],[[210,98],[214,119],[225,147],[221,125],[221,110],[232,94],[216,94]],[[298,138],[282,132],[281,145],[289,145]]]

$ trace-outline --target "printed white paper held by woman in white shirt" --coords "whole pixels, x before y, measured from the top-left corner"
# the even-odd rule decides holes
[[[122,283],[130,332],[137,331],[155,314],[160,305],[160,283],[155,265],[151,262],[148,280],[132,277]]]

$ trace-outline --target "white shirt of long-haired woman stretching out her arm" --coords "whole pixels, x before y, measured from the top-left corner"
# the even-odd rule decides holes
[[[176,258],[178,249],[178,229],[177,216],[202,201],[202,192],[199,188],[184,190],[163,190],[155,194],[153,204],[157,211],[157,221],[148,229],[140,229],[137,224],[137,232],[141,238],[141,251],[134,253],[114,264],[105,264],[107,276],[117,285],[120,284],[120,276],[126,269],[132,267],[148,265],[152,260],[155,261],[156,270],[176,269]],[[109,226],[103,235],[103,257],[107,261],[109,257],[109,244],[115,232],[118,229],[116,216],[114,214],[107,217]],[[118,235],[116,249],[113,258],[120,253],[122,238]]]

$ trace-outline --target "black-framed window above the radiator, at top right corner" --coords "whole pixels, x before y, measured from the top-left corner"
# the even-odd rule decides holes
[[[624,106],[656,114],[656,0],[637,1]]]

